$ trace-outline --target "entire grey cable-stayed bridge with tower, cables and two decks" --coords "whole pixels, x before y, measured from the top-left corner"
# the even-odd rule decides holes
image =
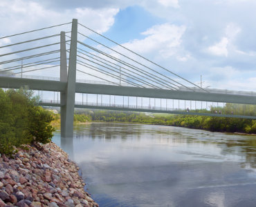
[[[69,26],[70,32],[42,37],[48,34],[45,31],[60,27],[66,30]],[[89,37],[91,33],[94,39]],[[35,34],[39,37],[35,38]],[[10,39],[17,40],[16,37],[19,41],[10,43]],[[73,137],[74,108],[256,119],[256,92],[197,86],[86,28],[77,19],[0,37],[0,43],[3,45],[0,45],[0,87],[29,86],[41,96],[39,105],[60,106],[62,137]],[[37,74],[27,75],[28,72]],[[86,79],[81,79],[82,75],[86,75]],[[54,98],[44,99],[43,91],[54,92]],[[82,100],[77,101],[79,94]],[[88,95],[96,95],[97,99],[90,101]],[[143,99],[148,99],[147,106],[143,105]],[[156,104],[156,99],[160,99],[160,104]],[[232,103],[231,108],[225,107],[227,103]]]

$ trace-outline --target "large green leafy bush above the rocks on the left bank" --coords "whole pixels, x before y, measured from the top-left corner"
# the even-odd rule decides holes
[[[51,113],[35,106],[38,97],[27,87],[4,92],[0,88],[0,152],[10,155],[14,147],[39,141],[46,144],[53,137]]]

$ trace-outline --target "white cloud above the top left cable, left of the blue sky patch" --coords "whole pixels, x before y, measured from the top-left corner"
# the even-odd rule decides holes
[[[106,32],[113,25],[114,17],[119,9],[102,8],[93,10],[91,8],[75,8],[73,10],[51,10],[44,8],[38,1],[24,1],[24,0],[1,0],[0,1],[1,15],[1,31],[0,35],[6,36],[8,34],[15,34],[19,32],[26,32],[28,30],[35,30],[37,28],[44,28],[60,23],[71,22],[72,19],[78,21],[93,30],[98,32]],[[70,30],[70,26],[63,26],[62,29]],[[68,29],[69,28],[69,29]],[[54,29],[53,29],[54,30]],[[59,32],[60,28],[55,31]],[[82,32],[85,30],[82,30]],[[42,34],[44,34],[42,30]],[[91,32],[86,32],[86,34]]]

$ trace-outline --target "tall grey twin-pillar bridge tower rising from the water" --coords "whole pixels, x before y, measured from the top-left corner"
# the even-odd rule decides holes
[[[64,106],[60,109],[61,137],[73,138],[73,121],[75,110],[75,79],[77,61],[77,19],[73,19],[71,30],[71,46],[68,59],[66,59],[66,37],[65,32],[60,33],[60,81],[66,82],[66,90],[61,92],[60,103]]]

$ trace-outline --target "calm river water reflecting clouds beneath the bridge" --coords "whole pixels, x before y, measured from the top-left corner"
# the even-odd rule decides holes
[[[256,206],[255,136],[104,123],[53,141],[100,206]]]

